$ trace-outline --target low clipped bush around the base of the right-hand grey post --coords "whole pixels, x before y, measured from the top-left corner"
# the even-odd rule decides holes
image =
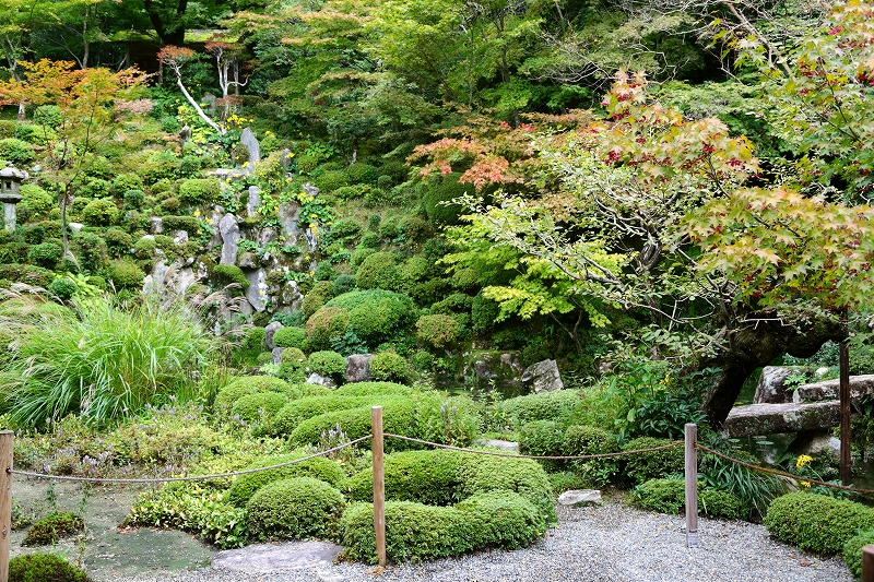
[[[698,485],[698,511],[704,515],[739,520],[746,513],[736,496]],[[635,488],[631,502],[649,511],[680,513],[686,506],[686,483],[682,479],[650,479]]]

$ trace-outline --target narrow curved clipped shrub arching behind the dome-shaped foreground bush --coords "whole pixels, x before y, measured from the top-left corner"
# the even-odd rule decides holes
[[[305,456],[305,453],[291,453],[276,456],[268,456],[247,466],[246,470],[261,468],[273,465],[281,465],[291,461],[296,461]],[[235,507],[246,507],[249,499],[264,485],[287,479],[291,477],[311,477],[324,482],[333,487],[339,487],[345,478],[343,467],[335,461],[323,456],[314,456],[294,465],[270,468],[260,473],[249,473],[238,476],[231,488],[227,490],[227,502]],[[371,485],[373,492],[373,485]]]

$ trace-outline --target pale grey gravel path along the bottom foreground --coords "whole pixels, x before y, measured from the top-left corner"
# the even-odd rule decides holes
[[[843,561],[819,559],[770,538],[765,527],[701,519],[699,547],[685,547],[684,520],[621,503],[558,508],[559,527],[534,546],[420,566],[364,565],[248,573],[204,568],[115,582],[852,582]]]

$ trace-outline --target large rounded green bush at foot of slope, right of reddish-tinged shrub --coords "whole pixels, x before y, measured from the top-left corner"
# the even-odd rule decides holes
[[[415,321],[413,300],[385,289],[350,292],[326,304],[340,307],[349,314],[349,326],[368,346],[391,341]]]

